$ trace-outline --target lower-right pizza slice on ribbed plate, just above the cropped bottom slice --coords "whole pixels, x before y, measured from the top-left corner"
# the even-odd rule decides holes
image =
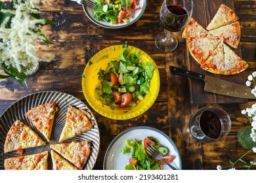
[[[51,144],[50,148],[58,152],[60,156],[70,161],[77,168],[83,169],[91,155],[93,145],[91,141],[73,141],[71,143]]]

